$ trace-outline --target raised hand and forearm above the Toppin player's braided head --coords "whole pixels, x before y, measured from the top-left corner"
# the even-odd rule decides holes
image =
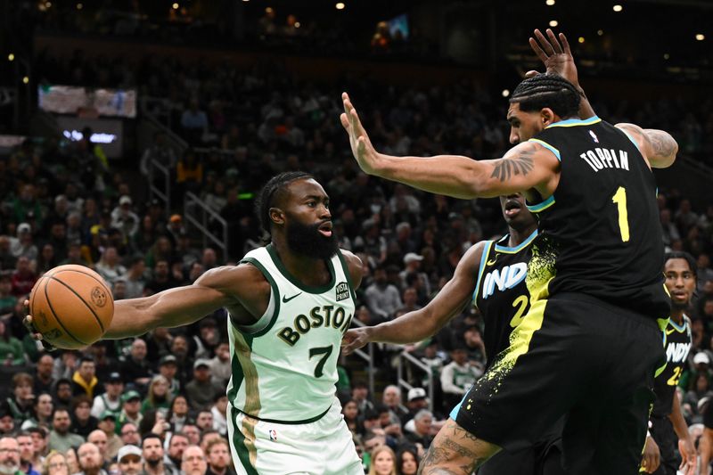
[[[559,41],[554,35],[552,29],[546,29],[547,37],[542,34],[539,29],[535,30],[535,38],[529,38],[529,45],[532,51],[537,54],[537,57],[545,65],[547,74],[556,74],[562,78],[567,79],[572,83],[582,97],[581,102],[579,102],[579,119],[589,119],[594,117],[594,109],[592,104],[589,103],[587,99],[585,90],[582,86],[579,86],[579,78],[577,74],[577,66],[574,63],[574,57],[572,56],[572,51],[570,49],[570,42],[567,41],[567,37],[564,33],[560,33]],[[537,71],[528,71],[526,76],[531,78],[537,75]]]

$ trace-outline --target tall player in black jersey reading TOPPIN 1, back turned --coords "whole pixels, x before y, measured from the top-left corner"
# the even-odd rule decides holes
[[[545,53],[571,57],[560,40],[563,49],[555,41]],[[463,199],[524,192],[539,216],[529,311],[438,432],[422,475],[470,475],[563,415],[567,473],[636,473],[670,311],[651,168],[676,160],[676,141],[660,130],[577,119],[586,96],[554,74],[513,91],[507,119],[516,145],[498,160],[379,153],[348,94],[342,100],[340,120],[366,173]]]

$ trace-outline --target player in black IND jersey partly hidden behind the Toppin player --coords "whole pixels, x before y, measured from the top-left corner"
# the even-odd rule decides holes
[[[473,303],[485,322],[486,367],[508,347],[512,330],[529,309],[525,275],[531,255],[530,244],[537,236],[537,221],[520,193],[501,196],[500,205],[508,233],[498,241],[473,245],[458,263],[453,279],[426,307],[400,316],[399,320],[405,317],[418,319],[417,324],[399,331],[401,339],[415,342],[432,336],[460,315],[463,307]],[[379,332],[389,332],[389,324],[381,323],[372,331],[349,330],[344,337],[344,352],[348,354],[369,341],[379,341]],[[561,424],[555,424],[532,446],[495,455],[480,467],[478,475],[561,475],[564,471],[561,468],[560,435]]]

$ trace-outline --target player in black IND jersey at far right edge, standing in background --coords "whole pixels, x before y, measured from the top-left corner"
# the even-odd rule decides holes
[[[652,438],[660,450],[660,465],[656,475],[676,475],[680,468],[686,475],[696,469],[696,449],[688,432],[681,401],[676,386],[681,378],[688,353],[691,350],[691,321],[684,314],[691,304],[696,288],[696,261],[687,252],[670,252],[666,255],[664,275],[666,288],[671,294],[671,318],[664,329],[666,341],[666,368],[656,376],[654,391],[656,402],[650,418]],[[679,464],[676,456],[676,440],[682,456]]]

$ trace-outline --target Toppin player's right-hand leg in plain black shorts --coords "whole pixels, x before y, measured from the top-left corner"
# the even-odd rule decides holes
[[[600,371],[570,412],[562,434],[570,473],[634,474],[639,470],[651,410],[653,375],[664,357],[660,330],[648,316],[586,301],[596,315]]]

